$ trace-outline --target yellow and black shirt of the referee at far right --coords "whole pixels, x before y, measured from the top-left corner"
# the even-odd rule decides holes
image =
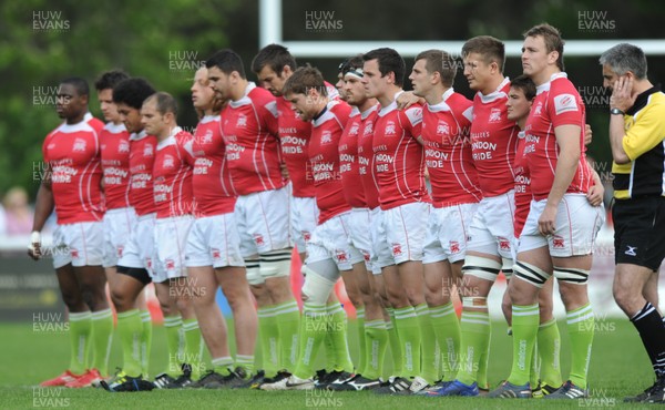
[[[614,197],[665,196],[665,94],[656,85],[624,115],[623,148],[631,162],[612,164]]]

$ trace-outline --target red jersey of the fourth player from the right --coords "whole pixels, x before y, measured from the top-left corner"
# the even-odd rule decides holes
[[[471,105],[466,96],[448,89],[442,102],[422,109],[424,163],[436,207],[482,199],[469,137]]]

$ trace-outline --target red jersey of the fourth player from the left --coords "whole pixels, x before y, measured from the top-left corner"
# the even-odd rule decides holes
[[[192,215],[194,196],[192,189],[193,136],[180,126],[157,143],[153,166],[154,198],[157,218]]]

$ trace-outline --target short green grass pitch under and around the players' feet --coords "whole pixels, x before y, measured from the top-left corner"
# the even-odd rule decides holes
[[[562,335],[562,371],[569,372],[570,356],[565,322]],[[229,329],[233,324],[229,322]],[[511,337],[504,322],[492,324],[489,379],[492,387],[508,377],[511,367]],[[356,327],[349,322],[351,352],[357,357]],[[233,334],[229,335],[233,339]],[[323,356],[323,351],[321,355]],[[624,319],[596,321],[596,336],[590,368],[591,398],[580,401],[499,400],[484,398],[427,398],[378,396],[372,392],[256,390],[153,390],[139,393],[109,393],[101,389],[41,389],[40,381],[62,372],[69,363],[69,337],[64,332],[40,331],[33,324],[0,324],[0,409],[563,409],[563,408],[652,408],[624,404],[653,382],[653,372],[633,326]],[[114,338],[110,369],[121,363],[120,341]],[[166,366],[164,328],[155,326],[151,375]],[[390,351],[387,352],[390,371]],[[209,360],[209,358],[208,358]],[[260,358],[259,358],[260,360]],[[319,358],[323,365],[323,357]],[[323,366],[319,366],[323,367]]]

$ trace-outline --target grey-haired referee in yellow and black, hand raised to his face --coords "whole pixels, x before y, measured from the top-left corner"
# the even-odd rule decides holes
[[[665,94],[646,78],[646,57],[617,44],[600,59],[610,99],[614,164],[614,299],[628,316],[656,382],[626,401],[665,401],[665,326],[658,311],[658,269],[665,257]]]

